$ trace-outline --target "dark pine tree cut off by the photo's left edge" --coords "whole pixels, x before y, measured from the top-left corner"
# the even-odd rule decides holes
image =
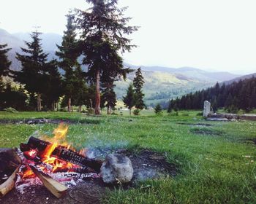
[[[7,44],[0,44],[0,77],[7,76],[11,65],[10,60],[7,58],[7,52],[10,49],[7,49],[6,47]]]

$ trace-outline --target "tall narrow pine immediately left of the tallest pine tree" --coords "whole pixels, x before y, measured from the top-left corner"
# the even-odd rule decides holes
[[[59,67],[64,70],[64,101],[67,101],[67,109],[70,112],[73,104],[72,100],[79,87],[75,87],[75,69],[80,68],[78,63],[77,46],[78,41],[75,39],[75,17],[69,12],[67,15],[67,31],[64,31],[61,46],[57,45],[59,51],[56,55],[59,57]]]

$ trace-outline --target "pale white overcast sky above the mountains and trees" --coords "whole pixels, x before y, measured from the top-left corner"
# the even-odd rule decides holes
[[[127,63],[190,66],[236,74],[256,72],[255,0],[119,0],[128,6],[130,35],[137,44]],[[1,0],[0,28],[10,33],[63,34],[68,10],[86,9],[85,0]]]

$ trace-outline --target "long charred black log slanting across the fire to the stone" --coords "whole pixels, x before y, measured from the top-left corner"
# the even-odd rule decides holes
[[[42,141],[31,136],[29,138],[28,144],[21,144],[20,149],[23,152],[30,149],[37,149],[38,152],[44,152],[45,149],[50,145],[52,144],[48,141]],[[59,158],[60,160],[80,165],[84,168],[89,167],[95,170],[97,173],[100,172],[100,168],[103,163],[101,160],[93,160],[87,157],[83,157],[83,155],[78,154],[78,152],[72,151],[71,149],[67,149],[65,146],[60,145],[56,146],[51,155],[53,157]]]

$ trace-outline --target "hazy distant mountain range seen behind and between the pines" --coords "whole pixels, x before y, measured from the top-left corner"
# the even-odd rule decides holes
[[[48,59],[56,58],[56,44],[61,44],[62,36],[59,34],[42,34],[42,48],[48,52]],[[8,52],[8,58],[12,61],[12,70],[20,70],[20,62],[15,58],[15,52],[21,52],[20,47],[25,47],[24,41],[30,41],[27,33],[10,34],[0,28],[0,44],[8,44],[12,48]],[[203,71],[199,68],[181,67],[169,68],[162,66],[135,66],[124,63],[124,66],[137,69],[140,67],[143,72],[145,85],[143,92],[147,105],[153,105],[160,101],[167,101],[186,93],[202,90],[210,87],[216,82],[225,82],[239,77],[226,71],[213,72]],[[117,98],[121,99],[126,93],[126,89],[135,76],[135,71],[128,74],[127,80],[122,79],[116,82]]]

